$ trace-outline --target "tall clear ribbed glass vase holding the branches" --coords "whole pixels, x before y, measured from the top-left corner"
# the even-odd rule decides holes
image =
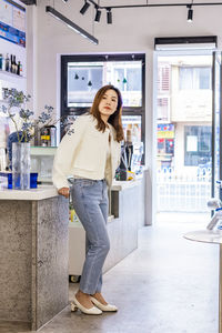
[[[12,143],[12,188],[16,190],[30,189],[30,143]]]

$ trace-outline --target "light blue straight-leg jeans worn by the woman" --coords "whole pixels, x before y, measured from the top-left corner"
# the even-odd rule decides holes
[[[107,182],[105,180],[74,179],[71,198],[73,208],[85,230],[85,261],[80,290],[87,294],[94,294],[101,292],[102,266],[110,250],[107,232]]]

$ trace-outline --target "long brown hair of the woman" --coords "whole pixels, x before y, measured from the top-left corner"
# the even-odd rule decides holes
[[[100,101],[101,101],[103,94],[105,93],[105,91],[108,91],[110,89],[114,90],[117,92],[117,94],[118,94],[118,107],[117,107],[117,111],[114,113],[112,113],[110,115],[110,118],[108,119],[108,122],[111,125],[113,125],[113,128],[115,129],[115,132],[117,132],[115,140],[118,142],[120,142],[121,140],[124,139],[124,133],[123,133],[122,120],[121,120],[121,115],[122,115],[122,95],[121,95],[121,92],[120,92],[120,90],[118,88],[115,88],[112,84],[108,84],[108,85],[104,85],[104,87],[100,88],[100,90],[98,90],[98,92],[97,92],[97,94],[94,97],[92,107],[90,109],[90,113],[98,121],[97,129],[99,131],[104,132],[104,130],[105,130],[105,123],[101,119],[100,111],[99,111],[99,104],[100,104]]]

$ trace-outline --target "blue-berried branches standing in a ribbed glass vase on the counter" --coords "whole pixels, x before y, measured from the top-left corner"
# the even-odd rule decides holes
[[[12,170],[13,189],[27,190],[30,188],[30,140],[39,132],[40,134],[50,127],[61,121],[69,134],[69,119],[54,119],[53,107],[44,105],[38,118],[33,118],[33,111],[29,110],[28,102],[31,95],[26,95],[17,89],[3,89],[3,104],[1,111],[11,120],[14,131],[8,138],[9,169]]]

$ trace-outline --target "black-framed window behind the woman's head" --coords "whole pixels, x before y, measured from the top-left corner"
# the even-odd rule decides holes
[[[135,151],[145,151],[145,54],[61,56],[61,117],[79,117],[90,111],[97,91],[117,87],[122,94],[124,137],[131,134]],[[64,130],[61,129],[61,137]]]

